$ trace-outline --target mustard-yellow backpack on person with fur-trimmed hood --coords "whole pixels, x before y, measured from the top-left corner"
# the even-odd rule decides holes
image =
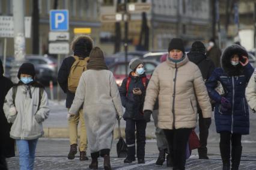
[[[79,56],[73,57],[76,59],[76,61],[72,64],[72,67],[70,68],[70,73],[67,80],[67,87],[70,92],[75,93],[76,88],[78,88],[78,83],[80,77],[82,76],[82,73],[87,70],[87,63],[90,58],[82,58]]]

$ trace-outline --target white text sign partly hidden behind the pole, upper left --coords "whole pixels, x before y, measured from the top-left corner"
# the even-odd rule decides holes
[[[31,35],[31,17],[25,17],[25,37]],[[0,16],[0,37],[14,37],[14,22],[12,16]]]

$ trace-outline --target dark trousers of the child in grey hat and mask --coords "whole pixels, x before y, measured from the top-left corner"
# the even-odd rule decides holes
[[[129,157],[129,159],[135,158],[135,131],[137,139],[137,158],[144,159],[146,144],[146,127],[147,123],[145,120],[126,119],[126,144],[128,155],[127,157]]]

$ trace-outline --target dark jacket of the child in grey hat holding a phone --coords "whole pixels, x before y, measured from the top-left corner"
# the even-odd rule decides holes
[[[121,87],[119,88],[119,93],[121,96],[122,105],[126,108],[124,112],[124,120],[127,118],[133,120],[144,119],[142,114],[143,104],[145,100],[146,88],[142,83],[142,77],[145,77],[145,73],[141,76],[132,76],[130,72],[129,77],[131,77],[128,91],[126,92],[127,77],[123,80]],[[146,81],[146,87],[148,85],[148,79]],[[142,91],[141,95],[133,94],[133,88],[139,88]],[[127,93],[127,96],[126,96]]]

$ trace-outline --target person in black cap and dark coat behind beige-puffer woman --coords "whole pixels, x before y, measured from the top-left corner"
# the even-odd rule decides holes
[[[199,67],[204,82],[206,82],[207,79],[211,76],[213,70],[215,69],[215,65],[213,61],[206,57],[206,47],[201,41],[195,41],[192,44],[192,47],[190,49],[190,52],[187,53],[187,56],[189,57],[189,60],[197,64]],[[207,156],[207,138],[209,135],[209,127],[211,124],[210,118],[203,118],[202,111],[200,109],[200,106],[198,107],[198,114],[199,114],[199,130],[200,130],[200,148],[198,148],[198,155],[199,159],[209,159]]]

